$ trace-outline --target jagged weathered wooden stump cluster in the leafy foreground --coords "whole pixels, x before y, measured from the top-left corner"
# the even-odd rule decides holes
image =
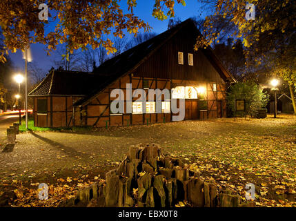
[[[241,204],[239,195],[218,194],[215,182],[202,181],[180,159],[163,155],[156,144],[130,146],[118,168],[106,173],[106,183],[79,192],[67,206],[94,199],[93,206],[172,207],[184,200],[198,207],[253,206]]]

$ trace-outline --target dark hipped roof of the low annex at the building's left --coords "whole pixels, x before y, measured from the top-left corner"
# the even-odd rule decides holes
[[[68,70],[51,70],[29,96],[76,95],[86,96],[92,92],[99,81],[107,77]]]

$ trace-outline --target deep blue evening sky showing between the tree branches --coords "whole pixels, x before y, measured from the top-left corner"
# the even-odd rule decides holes
[[[135,8],[135,14],[149,23],[149,25],[152,27],[152,32],[159,34],[167,29],[168,19],[159,21],[152,17],[152,8],[154,2],[155,1],[153,0],[138,0],[137,7]],[[126,9],[126,1],[122,1],[121,6]],[[201,5],[197,2],[197,0],[186,0],[186,6],[182,6],[181,4],[175,5],[175,17],[179,17],[181,21],[195,16],[204,18],[206,15],[206,10],[201,8]],[[55,23],[50,24],[46,28],[46,32],[54,30],[54,27]],[[53,64],[53,60],[57,58],[57,55],[55,55],[55,52],[52,52],[51,56],[47,56],[44,48],[46,47],[41,44],[31,45],[33,61],[37,63],[40,68],[47,71],[52,66],[55,66]],[[22,53],[20,50],[17,50],[16,53],[10,54],[10,58],[12,59],[16,69],[20,71],[24,70],[24,61],[22,59]]]

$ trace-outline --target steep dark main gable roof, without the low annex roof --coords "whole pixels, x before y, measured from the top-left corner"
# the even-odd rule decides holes
[[[101,93],[103,88],[106,88],[112,84],[119,77],[123,77],[128,73],[132,73],[132,70],[135,70],[138,66],[140,66],[144,61],[146,61],[146,59],[148,59],[148,57],[157,51],[158,48],[166,44],[166,42],[177,32],[179,32],[181,28],[187,25],[193,26],[195,28],[194,31],[197,31],[198,35],[201,35],[199,30],[197,30],[193,20],[187,19],[186,21],[179,23],[174,28],[166,30],[166,32],[163,32],[160,35],[157,35],[152,39],[149,39],[148,41],[145,41],[134,48],[130,48],[120,55],[105,61],[103,64],[101,64],[101,66],[96,68],[94,72],[99,75],[109,76],[110,78],[107,81],[102,82],[102,84],[93,90],[90,95],[79,99],[79,101],[75,103],[75,106],[88,104],[88,102]],[[206,50],[202,49],[202,51],[204,52],[204,55],[209,58],[210,62],[217,69],[219,75],[221,75],[224,80],[235,81],[232,75],[224,68],[219,59],[215,56],[211,48],[207,48]],[[211,59],[213,59],[213,61]]]

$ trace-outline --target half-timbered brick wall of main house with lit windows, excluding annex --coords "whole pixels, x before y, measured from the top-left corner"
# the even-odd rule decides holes
[[[120,88],[124,91],[126,97],[126,84],[132,84],[132,93],[137,88],[143,88],[143,80],[148,80],[150,89],[168,89],[169,91],[175,86],[204,86],[206,88],[205,99],[208,104],[208,111],[206,116],[200,116],[199,119],[210,119],[216,117],[226,117],[226,84],[217,82],[198,82],[198,81],[185,81],[176,79],[159,79],[149,77],[134,77],[127,75],[121,77],[112,86],[104,89],[95,99],[86,106],[79,106],[75,108],[75,126],[127,126],[139,124],[152,124],[157,122],[170,122],[172,120],[171,113],[144,113],[144,114],[110,114],[110,104],[112,100],[116,99],[110,97],[112,89]],[[213,91],[213,84],[217,85],[217,91]],[[148,90],[146,90],[148,95]],[[135,102],[138,97],[133,97],[132,102]],[[197,102],[199,99],[194,99]],[[147,96],[148,101],[148,96]],[[164,101],[164,96],[162,97]],[[218,101],[221,101],[221,116],[218,114]],[[126,108],[126,101],[124,102]],[[125,109],[126,112],[126,109]]]

